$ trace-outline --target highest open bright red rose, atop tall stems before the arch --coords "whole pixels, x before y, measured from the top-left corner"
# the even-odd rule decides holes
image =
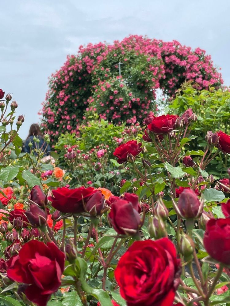
[[[170,133],[174,128],[177,118],[177,115],[162,115],[156,117],[148,125],[148,129],[156,134]]]

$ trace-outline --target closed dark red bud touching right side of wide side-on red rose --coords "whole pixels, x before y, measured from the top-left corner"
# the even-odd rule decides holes
[[[101,215],[104,207],[104,201],[105,196],[98,190],[87,200],[85,210],[92,216]]]

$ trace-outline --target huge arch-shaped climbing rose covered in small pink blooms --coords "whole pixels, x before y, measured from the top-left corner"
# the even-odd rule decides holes
[[[222,83],[204,50],[177,41],[132,35],[111,45],[80,46],[50,78],[42,125],[53,140],[65,130],[78,133],[82,118],[92,111],[115,123],[141,122],[157,110],[157,88],[173,96],[186,80],[195,81],[199,90]]]

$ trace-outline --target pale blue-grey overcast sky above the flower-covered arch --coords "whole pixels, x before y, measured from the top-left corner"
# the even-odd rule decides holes
[[[228,0],[0,0],[0,88],[25,114],[20,136],[39,122],[48,76],[79,45],[129,34],[205,49],[230,85]]]

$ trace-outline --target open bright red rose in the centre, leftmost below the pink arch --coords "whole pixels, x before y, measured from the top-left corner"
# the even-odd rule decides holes
[[[138,155],[141,152],[141,145],[137,143],[137,140],[130,140],[125,144],[121,144],[116,150],[113,152],[113,155],[118,158],[117,162],[122,164],[127,161],[127,156],[132,154],[133,156]]]

